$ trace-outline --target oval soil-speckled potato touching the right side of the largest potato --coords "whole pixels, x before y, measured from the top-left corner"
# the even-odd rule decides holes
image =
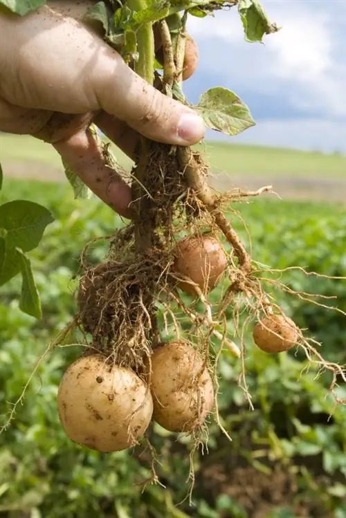
[[[168,342],[152,354],[151,385],[156,423],[171,432],[199,429],[214,405],[203,359],[188,342]]]

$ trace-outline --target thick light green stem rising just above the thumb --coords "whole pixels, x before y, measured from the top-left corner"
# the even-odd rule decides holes
[[[147,8],[146,0],[127,0],[127,5],[134,11]],[[134,64],[134,71],[143,77],[149,84],[154,82],[154,33],[152,23],[143,24],[136,31],[138,61]]]

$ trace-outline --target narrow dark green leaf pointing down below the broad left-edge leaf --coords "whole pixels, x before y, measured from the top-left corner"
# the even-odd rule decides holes
[[[21,297],[19,299],[19,308],[24,313],[35,318],[42,317],[41,302],[39,300],[39,293],[35,284],[33,270],[31,269],[30,259],[17,248],[17,253],[21,261],[21,277],[23,279],[21,284]]]

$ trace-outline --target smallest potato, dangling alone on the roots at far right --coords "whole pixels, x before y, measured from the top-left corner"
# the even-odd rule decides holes
[[[268,315],[253,330],[255,344],[265,353],[282,353],[297,344],[298,327],[284,315]]]

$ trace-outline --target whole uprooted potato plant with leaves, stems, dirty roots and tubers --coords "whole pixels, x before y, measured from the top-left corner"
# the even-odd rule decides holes
[[[236,5],[248,41],[261,41],[278,30],[257,0],[100,2],[88,16],[102,21],[106,41],[138,74],[165,95],[187,103],[182,90],[187,19]],[[154,59],[154,30],[162,41],[161,68]],[[195,109],[208,127],[228,135],[254,124],[242,100],[224,88],[201,95]],[[109,160],[113,163],[111,156]],[[251,405],[245,375],[251,350],[246,350],[244,338],[249,326],[262,351],[301,347],[309,362],[331,371],[330,389],[337,403],[345,403],[335,392],[337,383],[346,381],[343,367],[322,358],[320,344],[284,315],[266,286],[290,291],[307,304],[323,306],[320,299],[293,293],[271,279],[277,270],[256,263],[224,215],[226,207],[271,187],[218,194],[208,185],[208,164],[199,152],[145,138],[138,144],[130,177],[131,222],[110,237],[100,237],[109,242],[104,262],[89,263],[91,243],[82,251],[78,312],[51,344],[60,344],[72,329],[84,334],[85,351],[67,369],[58,394],[66,434],[87,447],[114,452],[145,443],[145,432],[155,420],[172,432],[188,434],[194,445],[203,444],[212,417],[222,428],[217,364],[225,349],[239,358],[239,385]],[[224,292],[212,304],[210,293],[220,282]],[[226,321],[230,307],[231,334]],[[180,315],[190,322],[188,338],[181,332]],[[175,339],[164,342],[167,326],[174,328]]]

